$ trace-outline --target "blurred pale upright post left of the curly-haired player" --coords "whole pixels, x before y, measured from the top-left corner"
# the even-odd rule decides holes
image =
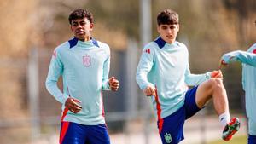
[[[34,141],[40,135],[40,122],[39,122],[39,103],[38,103],[38,49],[32,49],[28,61],[28,95],[29,95],[29,110],[31,117],[31,141]]]

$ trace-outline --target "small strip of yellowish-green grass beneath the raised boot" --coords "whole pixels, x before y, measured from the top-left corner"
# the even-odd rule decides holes
[[[246,135],[241,135],[241,136],[236,136],[232,138],[230,141],[212,141],[208,144],[247,144],[247,136]]]

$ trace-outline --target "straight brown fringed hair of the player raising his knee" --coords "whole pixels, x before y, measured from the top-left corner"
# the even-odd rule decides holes
[[[158,26],[160,26],[161,24],[178,24],[178,14],[171,9],[165,9],[157,15],[157,24]]]

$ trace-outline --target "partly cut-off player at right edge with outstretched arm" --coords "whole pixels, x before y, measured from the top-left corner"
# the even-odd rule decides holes
[[[255,21],[256,26],[256,21]],[[221,65],[242,63],[242,86],[245,90],[248,118],[248,144],[256,143],[256,43],[247,51],[236,50],[222,56]]]

